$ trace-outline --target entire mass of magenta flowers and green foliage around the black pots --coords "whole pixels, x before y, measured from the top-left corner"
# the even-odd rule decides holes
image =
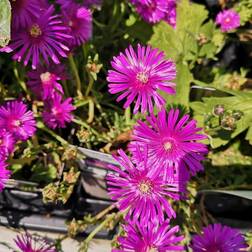
[[[239,173],[252,164],[242,149],[252,149],[251,63],[236,50],[251,49],[252,5],[195,2],[0,3],[0,191],[21,178],[43,187],[45,203],[66,204],[81,176],[77,146],[117,162],[106,176],[112,205],[68,223],[71,237],[96,225],[80,251],[117,225],[112,251],[249,245],[194,199],[200,189],[251,189],[251,171]],[[25,233],[15,243],[52,252],[62,239]]]

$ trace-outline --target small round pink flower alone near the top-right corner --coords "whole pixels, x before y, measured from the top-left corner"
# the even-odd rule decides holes
[[[221,26],[222,32],[227,32],[240,26],[240,16],[234,10],[224,10],[219,12],[215,22]]]

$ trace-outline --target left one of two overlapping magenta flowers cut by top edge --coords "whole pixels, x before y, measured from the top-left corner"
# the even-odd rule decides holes
[[[136,6],[140,16],[149,23],[161,21],[167,13],[167,0],[131,0],[131,2]]]

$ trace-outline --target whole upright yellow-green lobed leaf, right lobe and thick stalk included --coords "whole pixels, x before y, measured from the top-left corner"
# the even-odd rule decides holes
[[[208,11],[203,5],[180,1],[177,7],[177,26],[173,29],[165,22],[154,27],[149,43],[163,50],[167,58],[177,63],[176,97],[167,102],[188,106],[191,69],[202,58],[215,59],[224,45],[224,36],[216,29],[212,20],[205,22]]]

